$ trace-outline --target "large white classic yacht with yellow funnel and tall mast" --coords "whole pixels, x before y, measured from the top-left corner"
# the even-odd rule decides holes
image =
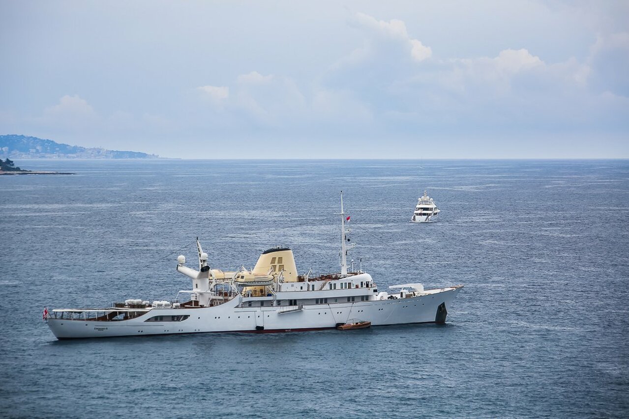
[[[262,252],[253,269],[214,269],[197,239],[199,269],[186,266],[184,256],[177,258],[177,271],[191,278],[192,286],[179,291],[174,300],[130,298],[107,308],[44,308],[43,318],[57,339],[296,332],[336,329],[352,322],[444,323],[463,286],[426,290],[421,283],[407,283],[389,286],[391,293],[379,290],[368,273],[348,269],[353,244],[346,244],[346,216],[341,192],[339,273],[298,275],[288,248]],[[421,271],[416,272],[413,279],[421,277]]]

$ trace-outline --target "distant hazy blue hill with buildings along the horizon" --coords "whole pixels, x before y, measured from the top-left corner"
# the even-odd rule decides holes
[[[139,151],[85,148],[25,135],[0,135],[0,158],[157,158]]]

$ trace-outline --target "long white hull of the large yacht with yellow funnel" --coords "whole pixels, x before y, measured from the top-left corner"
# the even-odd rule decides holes
[[[460,287],[437,293],[394,300],[371,300],[292,307],[240,307],[241,298],[215,307],[153,308],[131,320],[94,321],[48,318],[48,326],[58,339],[89,337],[145,336],[205,332],[291,332],[334,329],[352,318],[372,325],[445,322],[439,308],[450,303]],[[440,314],[439,314],[440,313]],[[155,315],[189,315],[181,322],[146,322]]]

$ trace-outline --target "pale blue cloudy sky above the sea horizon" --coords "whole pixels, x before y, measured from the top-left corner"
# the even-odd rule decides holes
[[[170,158],[629,158],[627,1],[0,0],[0,134]]]

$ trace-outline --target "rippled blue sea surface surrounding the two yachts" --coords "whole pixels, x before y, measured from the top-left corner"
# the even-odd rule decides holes
[[[16,161],[0,177],[0,416],[627,417],[629,161]],[[409,219],[423,190],[442,210]],[[58,341],[43,307],[171,299],[272,246],[382,290],[462,283],[447,325]]]

